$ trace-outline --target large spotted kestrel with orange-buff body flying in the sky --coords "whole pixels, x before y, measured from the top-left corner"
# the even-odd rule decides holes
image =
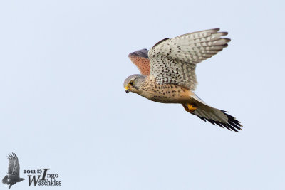
[[[227,32],[219,28],[165,38],[150,51],[142,49],[129,54],[140,75],[125,79],[125,92],[133,92],[161,103],[181,104],[187,112],[205,122],[238,132],[242,125],[226,111],[211,107],[195,93],[197,63],[211,58],[227,47]]]

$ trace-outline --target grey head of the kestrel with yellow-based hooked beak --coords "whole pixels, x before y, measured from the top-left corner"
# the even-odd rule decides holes
[[[147,76],[145,75],[130,75],[124,82],[125,92],[140,93],[140,87],[146,78]]]

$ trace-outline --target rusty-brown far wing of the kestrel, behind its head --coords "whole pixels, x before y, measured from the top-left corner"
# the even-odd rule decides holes
[[[130,60],[138,67],[142,75],[150,75],[150,59],[147,53],[147,49],[142,49],[129,54]]]

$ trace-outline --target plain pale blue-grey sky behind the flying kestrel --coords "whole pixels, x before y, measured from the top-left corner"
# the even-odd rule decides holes
[[[43,167],[62,186],[33,189],[284,189],[284,16],[283,1],[1,1],[1,177],[16,152],[12,189]],[[232,42],[196,92],[242,132],[125,93],[128,53],[217,27]]]

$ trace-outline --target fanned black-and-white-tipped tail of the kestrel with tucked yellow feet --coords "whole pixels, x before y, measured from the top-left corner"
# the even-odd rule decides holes
[[[196,115],[204,122],[208,121],[212,123],[212,125],[219,125],[219,127],[225,127],[235,132],[242,130],[240,122],[232,117],[232,115],[228,115],[226,111],[207,105],[195,94],[192,95],[192,98],[192,102],[182,104],[187,112]]]

